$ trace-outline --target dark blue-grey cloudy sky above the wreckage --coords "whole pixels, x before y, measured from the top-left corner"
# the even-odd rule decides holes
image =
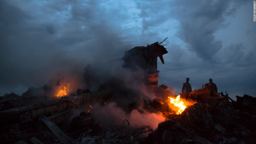
[[[256,93],[253,1],[0,0],[0,95],[21,95],[54,75],[123,57],[166,37],[159,85]]]

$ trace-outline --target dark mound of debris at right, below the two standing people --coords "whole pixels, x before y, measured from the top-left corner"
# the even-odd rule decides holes
[[[193,94],[197,91],[201,98],[202,90]],[[160,123],[142,143],[255,143],[256,98],[250,99],[253,101],[240,105],[241,109],[235,109],[234,104],[217,95],[197,101],[180,115]]]

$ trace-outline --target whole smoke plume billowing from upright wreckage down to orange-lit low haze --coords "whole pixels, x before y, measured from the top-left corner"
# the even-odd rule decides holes
[[[165,118],[161,114],[150,113],[144,109],[145,105],[156,98],[155,94],[144,84],[145,76],[142,70],[123,68],[123,64],[124,62],[118,59],[95,66],[88,65],[85,68],[88,71],[85,73],[87,85],[94,83],[91,88],[95,88],[105,83],[104,86],[114,91],[107,101],[93,104],[92,117],[95,122],[102,124],[103,128],[120,126],[127,119],[132,128],[149,126],[156,129]],[[93,71],[89,73],[90,70]]]

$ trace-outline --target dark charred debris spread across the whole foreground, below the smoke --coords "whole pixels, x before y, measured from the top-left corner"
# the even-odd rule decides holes
[[[167,104],[166,97],[171,93],[161,85],[156,95],[161,95],[162,98],[145,105],[149,112],[160,112],[166,117],[166,121],[159,123],[156,130],[148,126],[130,128],[129,119],[125,119],[123,125],[103,129],[101,124],[95,123],[91,118],[90,110],[93,109],[88,107],[88,112],[82,111],[79,116],[75,116],[73,111],[91,101],[105,100],[113,92],[105,89],[91,93],[89,90],[78,89],[78,93],[70,97],[37,105],[25,103],[36,99],[35,95],[29,93],[42,92],[40,89],[30,88],[22,96],[11,93],[1,97],[1,143],[250,144],[256,140],[256,98],[248,95],[237,96],[236,102],[229,102],[227,94],[208,98],[206,92],[207,98],[187,106],[177,115]],[[193,95],[196,100],[196,95],[199,95],[198,99],[202,99],[203,92],[195,90],[189,97],[192,98]]]

